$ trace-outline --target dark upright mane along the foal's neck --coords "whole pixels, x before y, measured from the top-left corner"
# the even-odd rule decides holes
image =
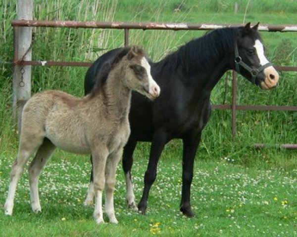
[[[130,46],[121,48],[120,52],[117,53],[117,55],[113,58],[111,62],[106,62],[102,65],[102,68],[100,69],[99,73],[94,78],[94,87],[90,92],[91,98],[99,93],[100,89],[105,84],[108,78],[109,72],[115,68],[115,66],[122,60],[122,58],[125,55],[127,55],[130,49]]]

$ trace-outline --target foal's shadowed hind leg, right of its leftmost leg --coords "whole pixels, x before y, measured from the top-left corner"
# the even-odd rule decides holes
[[[40,173],[47,161],[50,158],[50,155],[54,151],[55,146],[49,141],[48,138],[44,139],[43,144],[39,147],[35,158],[32,160],[29,166],[29,184],[30,184],[30,199],[31,207],[35,213],[41,211],[39,194],[38,194],[38,180]]]

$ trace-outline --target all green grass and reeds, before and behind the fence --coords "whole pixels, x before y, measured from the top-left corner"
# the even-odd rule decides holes
[[[295,0],[102,0],[34,1],[34,19],[188,23],[296,24]],[[14,2],[0,2],[0,208],[17,153],[18,132],[11,121],[12,28]],[[36,28],[33,60],[94,61],[122,46],[122,30]],[[144,45],[153,60],[205,32],[130,31],[130,42]],[[297,66],[297,33],[262,33],[267,57],[275,65]],[[33,67],[32,93],[60,89],[83,95],[87,68]],[[216,85],[214,104],[231,103],[230,72]],[[281,73],[279,86],[261,91],[239,77],[238,104],[297,106],[296,73]],[[225,98],[225,99],[224,99]],[[43,212],[30,210],[27,174],[20,180],[14,215],[0,213],[0,236],[297,236],[297,153],[254,150],[254,143],[297,143],[297,112],[237,112],[237,136],[231,139],[230,111],[213,111],[202,134],[195,163],[192,205],[196,217],[178,211],[181,192],[181,141],[170,142],[158,165],[148,214],[125,205],[121,167],[115,194],[119,225],[96,225],[93,208],[82,201],[89,180],[89,158],[56,151],[40,179]],[[142,194],[149,144],[137,147],[133,181]],[[26,172],[25,172],[26,173]]]

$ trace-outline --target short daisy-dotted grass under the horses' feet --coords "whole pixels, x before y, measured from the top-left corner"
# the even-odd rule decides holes
[[[146,147],[146,146],[145,146]],[[296,169],[250,168],[232,158],[197,157],[192,185],[196,217],[178,211],[181,191],[180,151],[169,146],[158,166],[147,215],[125,204],[125,183],[117,171],[115,211],[119,224],[96,225],[93,208],[84,207],[90,163],[87,157],[57,151],[40,178],[42,213],[30,209],[27,172],[22,176],[11,217],[0,215],[2,236],[294,236],[297,224]],[[168,155],[170,154],[170,155]],[[138,150],[133,166],[140,199],[147,151]],[[265,156],[262,153],[261,156]],[[6,194],[13,158],[0,157],[0,192]],[[295,167],[296,168],[296,167]],[[0,196],[4,203],[4,196]],[[106,220],[106,216],[104,216]],[[9,226],[9,228],[6,228]]]

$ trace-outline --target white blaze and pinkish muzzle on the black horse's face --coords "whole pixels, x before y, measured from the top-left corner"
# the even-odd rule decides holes
[[[258,55],[258,58],[260,61],[260,65],[263,66],[263,65],[269,63],[269,61],[267,60],[267,58],[264,55],[264,47],[260,40],[255,40],[254,47],[256,49],[256,52],[257,52],[257,55]],[[265,68],[264,75],[265,75],[264,81],[260,82],[262,89],[268,90],[268,89],[271,89],[277,85],[279,75],[278,75],[277,71],[274,69],[274,67],[269,66],[269,67]]]

